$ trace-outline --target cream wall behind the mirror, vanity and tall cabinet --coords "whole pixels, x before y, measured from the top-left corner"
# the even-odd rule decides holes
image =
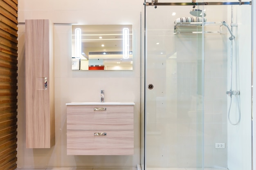
[[[18,2],[18,167],[136,167],[140,164],[140,22],[142,0],[19,0]],[[142,14],[143,15],[143,14]],[[54,24],[56,144],[50,149],[25,146],[25,20]],[[132,71],[72,71],[71,24],[132,24]],[[135,102],[133,156],[67,156],[68,102]]]

